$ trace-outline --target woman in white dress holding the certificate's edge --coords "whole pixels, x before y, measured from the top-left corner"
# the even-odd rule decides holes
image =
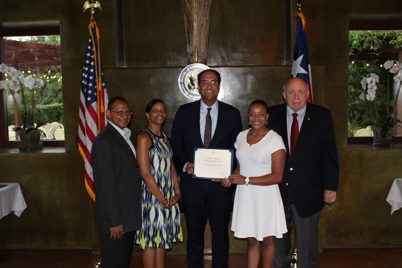
[[[237,167],[221,184],[237,184],[231,230],[235,237],[247,238],[247,267],[272,266],[275,246],[273,237],[287,232],[286,219],[278,184],[282,182],[285,146],[281,136],[266,127],[267,105],[256,100],[250,104],[250,129],[236,139]],[[261,248],[261,249],[260,249]]]

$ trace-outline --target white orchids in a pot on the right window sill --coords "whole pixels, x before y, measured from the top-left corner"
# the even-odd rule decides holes
[[[399,119],[395,118],[396,104],[402,80],[402,66],[399,66],[399,62],[396,60],[387,60],[383,64],[383,67],[385,69],[389,69],[390,73],[396,74],[393,79],[399,82],[394,105],[392,107],[389,107],[389,96],[387,96],[386,112],[379,112],[377,110],[375,96],[377,90],[376,83],[378,82],[379,77],[375,73],[367,74],[362,78],[360,83],[362,85],[363,92],[361,93],[360,97],[362,99],[366,99],[367,101],[373,102],[375,119],[367,117],[368,120],[371,122],[371,129],[373,130],[373,145],[391,146],[392,137],[394,135],[396,127],[401,127],[400,125],[398,125],[398,123],[402,123]],[[389,91],[387,91],[387,95],[389,95]]]

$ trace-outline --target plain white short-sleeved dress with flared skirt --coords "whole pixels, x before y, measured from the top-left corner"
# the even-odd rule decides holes
[[[247,143],[248,131],[240,132],[235,142],[240,174],[257,177],[272,173],[271,154],[285,149],[282,137],[270,130],[250,146]],[[255,237],[258,241],[267,236],[282,238],[287,227],[278,185],[237,185],[231,230],[238,238]]]

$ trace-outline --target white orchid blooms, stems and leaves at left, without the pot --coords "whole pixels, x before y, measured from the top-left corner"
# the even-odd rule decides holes
[[[44,81],[43,79],[36,78],[32,74],[27,76],[24,75],[23,72],[17,70],[14,67],[8,66],[5,63],[0,64],[0,73],[4,73],[5,80],[0,80],[0,90],[9,91],[11,96],[13,96],[14,104],[16,107],[20,107],[17,105],[17,99],[19,103],[19,95],[22,96],[22,101],[24,104],[24,119],[25,123],[22,123],[22,126],[16,126],[13,128],[14,131],[29,133],[30,131],[37,129],[46,124],[46,122],[39,122],[36,127],[34,126],[34,107],[35,107],[35,98],[32,98],[32,122],[28,123],[28,115],[27,115],[27,107],[25,103],[25,95],[24,89],[28,88],[29,90],[34,90],[34,88],[40,88]],[[16,97],[17,96],[17,97]],[[16,109],[19,120],[23,121],[21,116],[21,109]]]

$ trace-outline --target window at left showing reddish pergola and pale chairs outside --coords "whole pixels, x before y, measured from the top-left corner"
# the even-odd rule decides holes
[[[15,68],[24,80],[19,84],[12,81],[16,75],[2,73],[1,87],[7,84],[8,88],[0,96],[4,104],[0,129],[5,129],[0,133],[0,147],[17,147],[18,135],[12,131],[13,126],[41,121],[48,123],[41,127],[44,146],[64,146],[59,24],[47,21],[32,25],[33,28],[29,23],[0,27],[2,67]]]

